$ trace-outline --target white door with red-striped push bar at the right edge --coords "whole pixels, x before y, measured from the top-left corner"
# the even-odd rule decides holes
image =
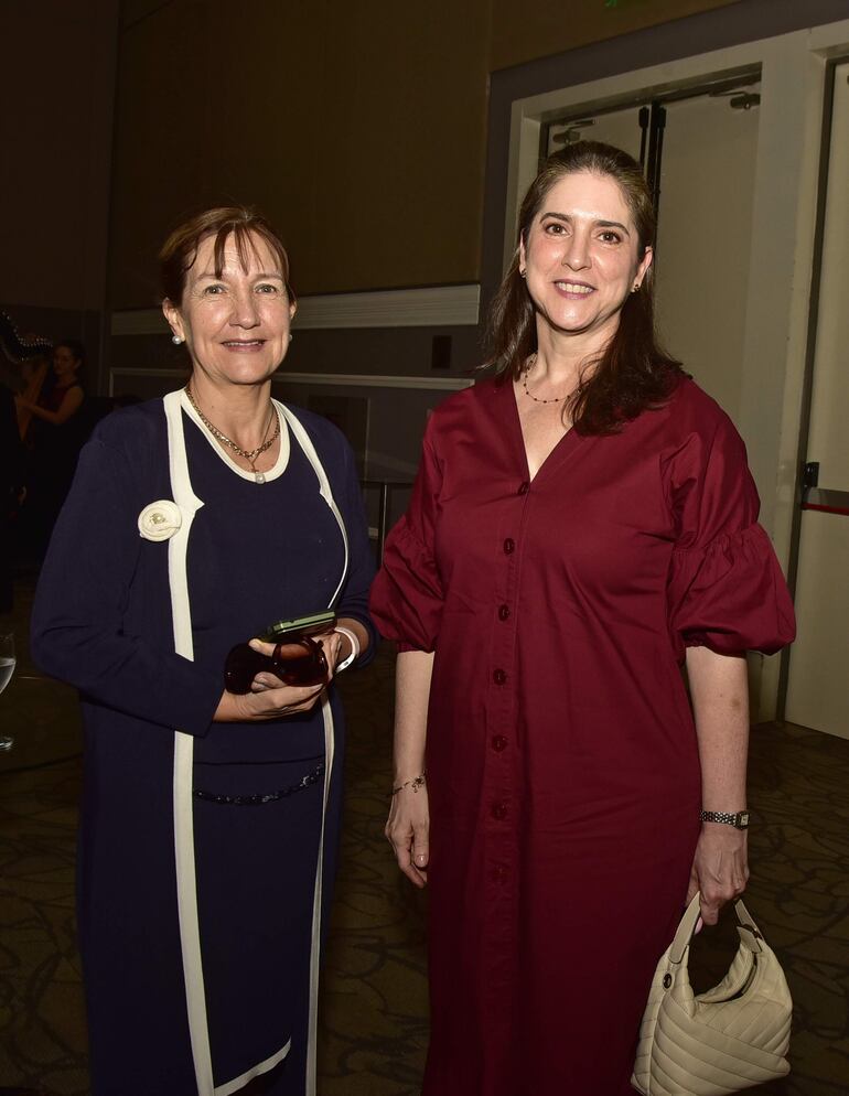
[[[786,718],[849,738],[849,63],[835,72],[807,460]]]

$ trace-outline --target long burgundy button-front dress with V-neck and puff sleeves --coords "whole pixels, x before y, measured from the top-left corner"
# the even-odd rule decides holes
[[[793,609],[745,450],[692,382],[529,482],[513,386],[433,413],[372,608],[434,651],[424,1096],[625,1096],[680,915],[700,773],[685,647]]]

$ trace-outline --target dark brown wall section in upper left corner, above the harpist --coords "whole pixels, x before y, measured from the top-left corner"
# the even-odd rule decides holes
[[[0,304],[103,299],[118,0],[0,4]]]

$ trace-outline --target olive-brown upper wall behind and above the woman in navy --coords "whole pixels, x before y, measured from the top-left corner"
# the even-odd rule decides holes
[[[166,227],[222,201],[279,225],[301,293],[477,281],[487,74],[729,2],[130,0],[111,304],[150,305]]]

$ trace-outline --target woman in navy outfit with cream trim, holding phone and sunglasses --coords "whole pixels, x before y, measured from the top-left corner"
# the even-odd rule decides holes
[[[326,608],[331,676],[367,660],[362,498],[340,432],[271,398],[295,300],[268,224],[211,209],[161,259],[191,378],[99,425],[33,614],[37,662],[85,714],[92,1090],[311,1096],[342,712],[332,683],[262,673],[236,695],[223,666]]]

